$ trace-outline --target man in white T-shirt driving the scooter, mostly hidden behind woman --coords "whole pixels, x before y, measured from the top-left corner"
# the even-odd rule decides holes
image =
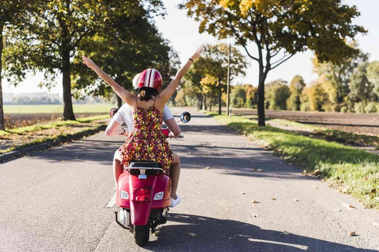
[[[138,79],[139,75],[137,74],[133,79],[133,89],[136,93],[138,93]],[[165,106],[163,110],[163,121],[167,125],[168,129],[171,131],[169,134],[170,138],[177,138],[181,131],[178,126],[178,124],[175,121],[174,116],[172,116],[170,109]],[[121,125],[126,123],[127,129],[121,128]],[[105,130],[105,134],[107,136],[117,136],[117,135],[123,135],[128,136],[129,133],[134,129],[133,124],[133,113],[129,107],[128,104],[122,105],[117,113],[113,116],[111,122],[109,123],[107,129]],[[176,153],[174,155],[177,156]],[[179,160],[179,157],[177,157],[177,160]],[[124,171],[124,167],[121,165],[121,157],[116,150],[114,158],[113,158],[113,174],[115,178],[115,182],[117,184],[118,178],[120,177],[121,173]],[[178,163],[173,163],[170,166],[169,171],[171,182],[172,182],[172,200],[171,200],[171,207],[175,207],[180,202],[180,197],[176,194],[176,189],[179,182],[179,175],[180,175],[180,161]]]

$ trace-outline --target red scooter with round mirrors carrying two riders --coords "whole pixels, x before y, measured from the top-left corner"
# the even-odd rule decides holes
[[[115,113],[117,108],[110,115],[113,117]],[[191,114],[183,112],[180,120],[188,122]],[[162,129],[162,132],[167,138],[170,131]],[[117,182],[116,204],[120,209],[115,212],[116,223],[134,233],[137,245],[146,245],[150,231],[154,233],[158,225],[167,222],[171,196],[171,178],[159,163],[131,161],[124,166]]]

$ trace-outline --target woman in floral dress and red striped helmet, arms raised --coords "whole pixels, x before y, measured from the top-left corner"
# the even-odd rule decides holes
[[[138,96],[126,91],[118,85],[109,75],[101,70],[86,56],[82,56],[83,63],[93,69],[105,82],[107,82],[117,95],[124,100],[133,111],[135,129],[129,134],[125,144],[119,149],[122,158],[121,164],[132,160],[155,161],[161,164],[163,169],[170,167],[172,163],[178,163],[177,155],[173,155],[170,145],[161,132],[162,112],[167,101],[175,92],[180,80],[191,67],[192,62],[200,57],[204,46],[201,45],[187,62],[177,72],[174,79],[162,91],[162,77],[158,71],[147,69],[139,77]],[[171,206],[176,206],[180,197],[175,194],[172,197]]]

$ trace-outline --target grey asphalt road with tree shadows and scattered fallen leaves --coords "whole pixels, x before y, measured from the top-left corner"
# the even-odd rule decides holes
[[[106,208],[122,138],[102,132],[0,164],[0,251],[379,249],[376,211],[199,112],[181,129],[185,138],[170,143],[182,162],[182,202],[147,246],[115,223],[116,206]]]

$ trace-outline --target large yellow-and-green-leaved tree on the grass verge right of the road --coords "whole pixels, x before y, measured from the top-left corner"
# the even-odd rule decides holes
[[[258,125],[265,125],[264,83],[269,71],[297,52],[314,51],[323,61],[340,62],[356,50],[346,38],[365,33],[352,21],[360,15],[342,0],[186,0],[181,9],[200,21],[199,31],[218,38],[234,37],[258,62]],[[248,44],[257,45],[253,55]]]

